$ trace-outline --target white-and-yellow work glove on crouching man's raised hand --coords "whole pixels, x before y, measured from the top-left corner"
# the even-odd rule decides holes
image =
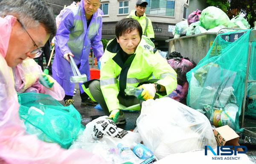
[[[143,97],[144,100],[153,99],[157,92],[157,89],[154,83],[143,84],[138,88],[143,89],[143,91],[141,92],[141,96]]]

